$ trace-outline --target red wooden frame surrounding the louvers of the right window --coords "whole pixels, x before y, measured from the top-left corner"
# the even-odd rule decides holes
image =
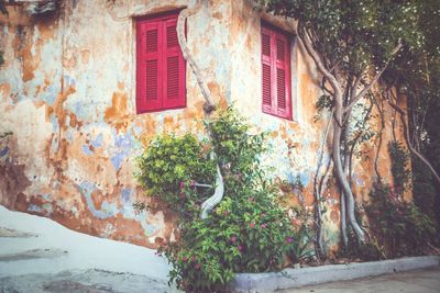
[[[270,35],[270,56],[264,55],[263,52],[263,35]],[[286,42],[285,46],[284,46],[284,52],[285,52],[285,56],[284,56],[284,63],[283,63],[283,68],[285,70],[285,87],[284,87],[284,91],[285,91],[285,109],[279,108],[278,105],[278,99],[277,99],[277,77],[278,74],[275,72],[277,70],[277,68],[279,67],[279,60],[277,59],[277,56],[275,55],[275,52],[277,49],[276,47],[276,41],[280,38],[284,40]],[[286,120],[290,120],[293,121],[293,82],[292,82],[292,45],[294,42],[294,36],[266,22],[266,21],[261,21],[261,31],[260,31],[260,40],[261,40],[261,86],[262,86],[262,112],[265,114],[270,114],[270,115],[274,115],[277,117],[282,117],[282,119],[286,119]],[[264,82],[265,82],[265,77],[267,78],[267,76],[264,75],[264,66],[267,66],[267,64],[270,64],[270,92],[271,92],[271,105],[268,105],[267,103],[265,103],[265,95],[264,95],[264,91],[265,91],[265,87],[264,87]],[[266,98],[267,101],[267,98]]]

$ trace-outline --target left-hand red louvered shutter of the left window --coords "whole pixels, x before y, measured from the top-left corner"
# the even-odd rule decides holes
[[[136,108],[143,113],[162,108],[161,23],[138,22],[136,33]]]

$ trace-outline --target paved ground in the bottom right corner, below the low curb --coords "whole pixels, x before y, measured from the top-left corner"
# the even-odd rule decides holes
[[[284,290],[280,293],[440,293],[440,267],[339,281],[301,289]]]

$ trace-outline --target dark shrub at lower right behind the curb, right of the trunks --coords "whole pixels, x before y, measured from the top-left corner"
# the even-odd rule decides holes
[[[388,258],[420,255],[436,235],[432,219],[386,184],[376,183],[365,205],[370,225]]]

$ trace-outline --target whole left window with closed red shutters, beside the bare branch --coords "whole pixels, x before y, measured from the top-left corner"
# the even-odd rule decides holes
[[[177,13],[136,21],[138,113],[186,106],[185,59]]]

